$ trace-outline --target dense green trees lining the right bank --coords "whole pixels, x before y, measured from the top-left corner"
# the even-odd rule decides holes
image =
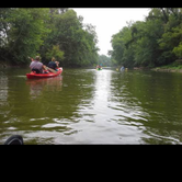
[[[158,67],[182,58],[182,9],[152,8],[145,21],[127,22],[112,36],[112,61],[125,67]]]

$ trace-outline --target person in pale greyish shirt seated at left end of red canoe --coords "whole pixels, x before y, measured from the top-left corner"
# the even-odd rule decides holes
[[[46,72],[46,66],[41,62],[39,56],[36,56],[35,59],[31,58],[32,62],[30,65],[30,68],[32,71],[35,71],[36,73],[44,73],[44,70]]]

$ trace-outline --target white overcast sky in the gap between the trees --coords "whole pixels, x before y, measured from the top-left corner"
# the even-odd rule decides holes
[[[77,15],[83,16],[83,23],[95,26],[98,35],[99,54],[107,56],[107,50],[112,49],[111,38],[118,33],[126,22],[144,21],[150,11],[149,8],[72,8]]]

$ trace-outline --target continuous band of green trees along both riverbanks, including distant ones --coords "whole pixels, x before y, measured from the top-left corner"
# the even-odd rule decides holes
[[[38,55],[67,68],[168,72],[182,72],[182,8],[151,8],[144,21],[127,22],[112,35],[109,56],[96,44],[95,26],[70,8],[0,8],[0,68],[29,66]]]

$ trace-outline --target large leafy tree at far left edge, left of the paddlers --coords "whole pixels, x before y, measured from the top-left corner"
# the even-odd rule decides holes
[[[1,50],[12,62],[20,65],[27,61],[27,56],[36,55],[43,37],[49,32],[44,21],[48,19],[47,11],[48,9],[15,8],[9,9],[7,15],[1,16],[5,30]]]

